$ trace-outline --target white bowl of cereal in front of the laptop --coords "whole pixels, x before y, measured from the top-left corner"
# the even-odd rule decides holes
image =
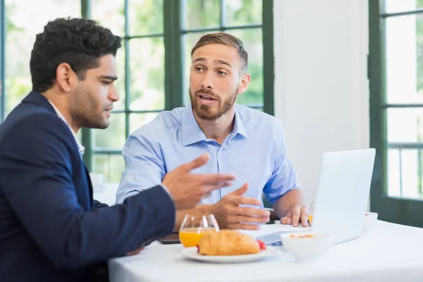
[[[311,238],[301,236],[312,235]],[[327,233],[295,232],[281,235],[285,250],[299,262],[307,262],[324,255],[332,245],[332,235]]]

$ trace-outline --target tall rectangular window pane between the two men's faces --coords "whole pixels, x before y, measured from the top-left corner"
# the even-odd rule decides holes
[[[131,39],[130,109],[164,109],[164,42],[162,37]]]

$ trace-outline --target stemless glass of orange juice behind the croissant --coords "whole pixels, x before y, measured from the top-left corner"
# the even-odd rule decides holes
[[[195,247],[205,233],[219,231],[213,214],[201,216],[186,214],[179,229],[179,240],[184,247]]]

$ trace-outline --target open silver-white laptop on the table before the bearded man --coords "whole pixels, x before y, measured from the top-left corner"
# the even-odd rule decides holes
[[[312,221],[312,232],[331,233],[333,244],[359,238],[364,227],[376,150],[324,153]],[[298,228],[298,231],[309,231]],[[280,231],[257,237],[281,245]]]

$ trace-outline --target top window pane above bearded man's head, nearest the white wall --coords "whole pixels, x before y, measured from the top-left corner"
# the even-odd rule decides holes
[[[262,23],[262,0],[226,0],[226,26]]]

